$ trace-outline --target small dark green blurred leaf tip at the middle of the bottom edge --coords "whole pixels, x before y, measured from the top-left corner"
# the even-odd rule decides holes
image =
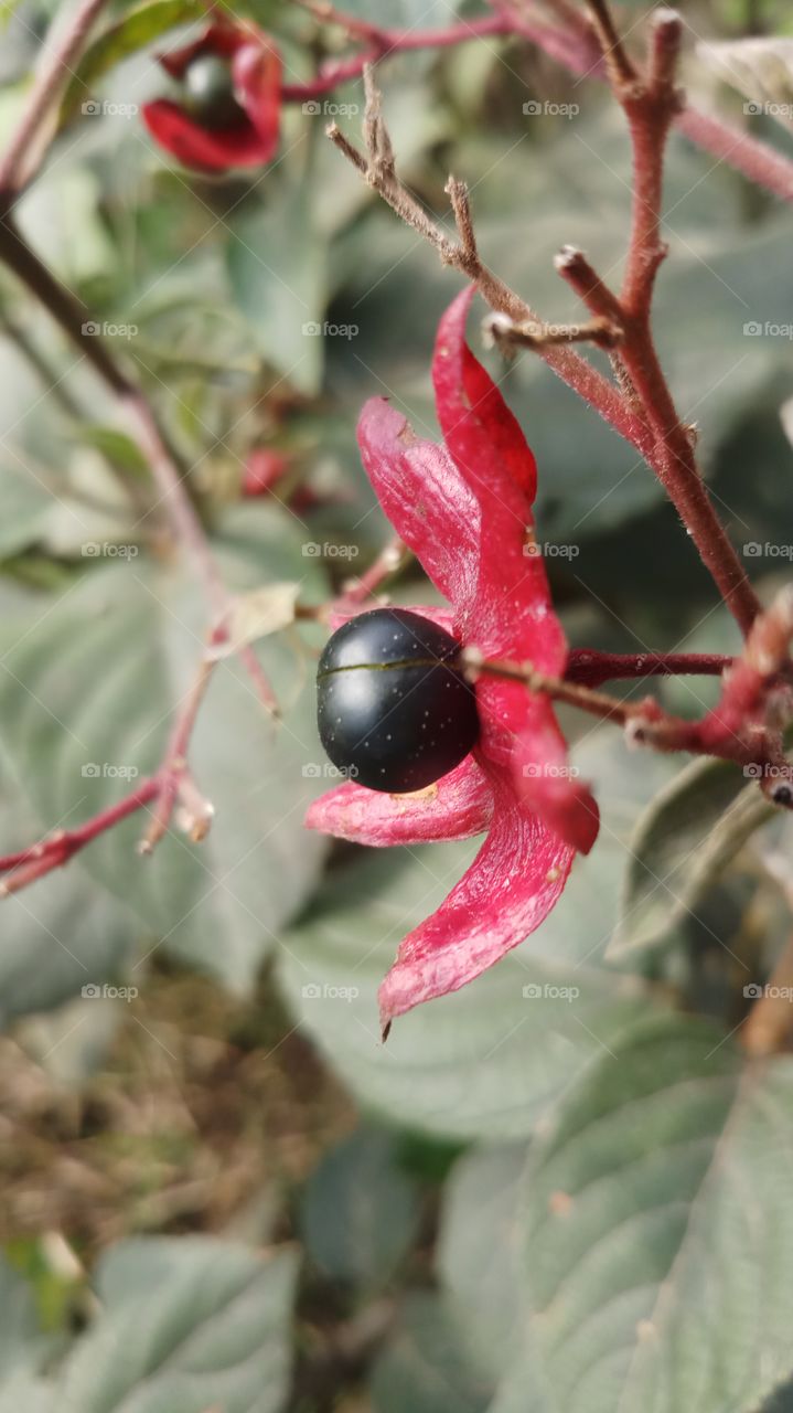
[[[412,1294],[370,1383],[374,1413],[484,1413],[491,1385],[437,1297]]]

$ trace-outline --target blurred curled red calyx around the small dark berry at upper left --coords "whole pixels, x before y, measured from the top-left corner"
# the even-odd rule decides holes
[[[281,57],[272,38],[250,23],[216,21],[192,44],[161,55],[159,62],[171,78],[182,79],[202,55],[229,61],[238,122],[213,129],[172,99],[157,99],[143,107],[151,136],[198,171],[264,165],[278,147],[281,120]]]

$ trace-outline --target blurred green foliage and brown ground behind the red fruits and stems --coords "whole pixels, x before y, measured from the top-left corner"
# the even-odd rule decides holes
[[[3,6],[3,140],[61,8]],[[308,78],[310,17],[244,8]],[[452,20],[426,0],[347,8]],[[126,331],[113,349],[192,468],[227,582],[299,581],[319,603],[388,537],[358,410],[387,394],[435,432],[429,357],[459,277],[326,141],[329,116],[357,134],[357,83],[337,113],[289,107],[262,172],[171,165],[124,106],[162,92],[157,45],[196,11],[143,10],[110,11],[20,226]],[[793,34],[789,6],[683,11],[689,89],[746,122],[696,44]],[[635,34],[645,13],[621,7]],[[464,177],[484,257],[545,317],[576,312],[552,268],[564,242],[618,276],[629,151],[600,85],[488,40],[395,57],[382,89],[409,185],[449,223],[443,184]],[[104,114],[82,112],[86,92]],[[580,112],[525,114],[538,99]],[[751,123],[790,153],[772,119]],[[673,137],[665,235],[663,362],[734,541],[779,550],[753,557],[770,592],[793,543],[793,343],[746,325],[793,318],[790,216]],[[485,360],[538,455],[539,538],[569,547],[547,567],[570,642],[732,651],[646,466],[539,360]],[[285,476],[243,496],[262,449]],[[119,798],[87,763],[155,766],[203,622],[106,393],[4,273],[0,493],[13,849]],[[391,592],[426,602],[415,567]],[[748,1077],[732,1039],[790,930],[790,827],[734,767],[680,774],[566,721],[604,811],[597,849],[528,945],[382,1047],[378,982],[473,845],[368,855],[303,831],[320,643],[301,626],[257,647],[281,726],[233,663],[216,674],[192,753],[216,807],[200,848],[169,835],[144,863],[130,820],[3,903],[1,1413],[793,1407],[793,1075],[780,1058]],[[684,714],[713,699],[703,680],[658,691]],[[106,985],[137,995],[83,993]]]

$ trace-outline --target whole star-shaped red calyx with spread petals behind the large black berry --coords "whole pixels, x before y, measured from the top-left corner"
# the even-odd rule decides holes
[[[440,321],[433,357],[444,445],[418,438],[384,398],[368,401],[358,444],[380,503],[450,609],[416,609],[485,658],[563,675],[567,644],[535,551],[536,465],[501,393],[466,343],[473,290]],[[380,989],[387,1029],[422,1000],[473,981],[522,942],[557,901],[597,805],[567,764],[547,697],[483,674],[474,752],[416,796],[356,784],[325,794],[310,828],[360,844],[419,844],[487,831],[471,866],[401,944]]]

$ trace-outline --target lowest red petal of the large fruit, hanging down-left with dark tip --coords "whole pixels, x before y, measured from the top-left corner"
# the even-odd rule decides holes
[[[490,834],[449,897],[401,944],[380,988],[384,1027],[423,1000],[459,991],[518,947],[557,901],[574,851],[495,784]]]

